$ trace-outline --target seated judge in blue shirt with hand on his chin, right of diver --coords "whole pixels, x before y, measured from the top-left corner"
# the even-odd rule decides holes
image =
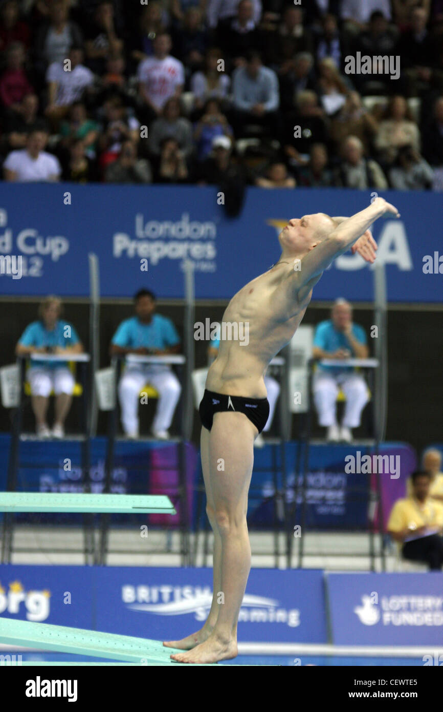
[[[336,299],[331,319],[317,326],[312,355],[316,359],[343,361],[343,366],[318,365],[314,373],[314,402],[319,424],[328,429],[326,439],[351,442],[352,429],[360,425],[361,412],[368,402],[368,389],[363,376],[346,366],[346,359],[367,358],[368,346],[363,328],[353,323],[352,306],[346,299]],[[338,387],[346,396],[341,428],[336,415]]]

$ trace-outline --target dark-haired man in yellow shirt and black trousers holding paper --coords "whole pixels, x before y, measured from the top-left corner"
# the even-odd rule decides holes
[[[411,475],[412,494],[398,499],[390,513],[388,533],[401,545],[402,557],[425,561],[430,570],[443,565],[443,504],[429,496],[432,475]]]

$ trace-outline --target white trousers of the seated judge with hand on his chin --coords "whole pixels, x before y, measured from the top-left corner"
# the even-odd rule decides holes
[[[333,375],[325,372],[314,374],[314,402],[319,414],[319,424],[324,427],[336,425],[336,399],[338,385],[346,396],[343,426],[356,428],[360,425],[361,412],[368,402],[365,379],[357,373]]]

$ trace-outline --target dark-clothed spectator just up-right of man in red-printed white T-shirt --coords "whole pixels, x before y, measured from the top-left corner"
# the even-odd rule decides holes
[[[203,15],[196,6],[186,9],[183,26],[174,33],[174,48],[177,58],[183,62],[186,74],[201,69],[203,66],[208,33],[203,26]]]

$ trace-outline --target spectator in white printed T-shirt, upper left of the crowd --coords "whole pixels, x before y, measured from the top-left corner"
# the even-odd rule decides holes
[[[91,70],[83,64],[81,47],[71,47],[68,58],[69,71],[65,71],[59,62],[53,62],[46,72],[48,86],[46,116],[55,127],[58,127],[58,121],[65,117],[73,103],[82,100],[85,93],[92,92],[95,81]]]

